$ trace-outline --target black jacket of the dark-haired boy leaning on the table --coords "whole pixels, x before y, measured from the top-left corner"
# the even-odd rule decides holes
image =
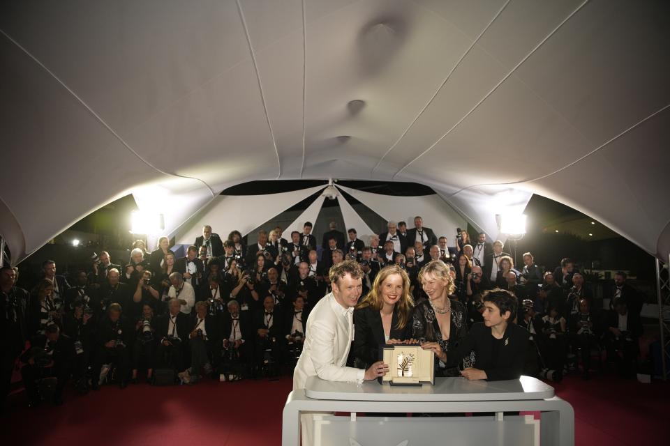
[[[486,372],[486,380],[519,379],[526,364],[528,331],[515,323],[509,323],[502,335],[497,355],[493,354],[494,341],[498,339],[493,338],[490,327],[482,322],[472,324],[468,336],[456,347],[452,358],[447,355],[447,361],[455,360],[454,364],[457,364],[463,357],[470,355],[470,351],[475,351],[474,367]]]

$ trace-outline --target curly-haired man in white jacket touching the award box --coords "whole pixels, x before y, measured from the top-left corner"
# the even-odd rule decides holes
[[[379,361],[367,370],[346,367],[353,337],[353,312],[363,291],[359,263],[343,261],[330,268],[333,292],[315,305],[307,319],[307,336],[293,372],[293,390],[304,389],[310,376],[350,383],[373,380],[389,370]]]

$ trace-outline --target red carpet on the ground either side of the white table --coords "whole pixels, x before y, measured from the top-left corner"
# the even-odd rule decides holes
[[[0,444],[217,445],[281,444],[281,412],[292,380],[206,381],[193,386],[119,390],[106,386],[63,406],[29,410],[24,393],[10,397]],[[613,376],[556,386],[575,411],[576,445],[667,445],[670,385]],[[665,436],[664,436],[665,435]]]

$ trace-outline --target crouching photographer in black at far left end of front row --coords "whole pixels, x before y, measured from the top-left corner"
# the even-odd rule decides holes
[[[45,335],[31,342],[31,348],[21,356],[25,365],[21,368],[23,385],[26,387],[30,407],[37,406],[45,395],[40,394],[38,381],[56,378],[52,401],[59,406],[63,403],[63,390],[70,377],[70,365],[75,353],[73,341],[56,324],[45,329]]]

